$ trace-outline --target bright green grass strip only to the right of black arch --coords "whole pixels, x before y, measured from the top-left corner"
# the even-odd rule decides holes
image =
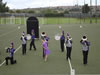
[[[39,17],[40,24],[89,24],[90,18],[80,19],[80,18],[66,18],[66,17],[49,17],[41,18]],[[98,23],[100,23],[100,18],[98,18]],[[95,23],[95,18],[92,18],[92,23]]]

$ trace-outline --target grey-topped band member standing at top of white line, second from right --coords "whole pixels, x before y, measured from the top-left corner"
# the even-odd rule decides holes
[[[67,50],[66,59],[68,60],[68,58],[71,59],[72,38],[70,36],[67,37],[67,40],[65,43],[66,43],[66,50]]]

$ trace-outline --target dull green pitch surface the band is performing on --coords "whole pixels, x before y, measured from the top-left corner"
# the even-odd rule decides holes
[[[80,28],[80,25],[83,28]],[[18,29],[21,26],[21,29]],[[15,53],[17,64],[0,67],[0,75],[67,75],[70,74],[68,61],[66,61],[66,51],[61,53],[59,41],[54,39],[57,33],[62,30],[69,32],[73,38],[72,66],[77,74],[100,74],[100,25],[99,24],[62,24],[58,25],[40,25],[40,33],[45,31],[50,37],[49,49],[51,54],[47,62],[42,58],[41,41],[36,40],[37,51],[29,51],[30,41],[27,42],[27,54],[22,55],[21,48]],[[26,31],[25,25],[0,25],[0,60],[2,63],[8,55],[5,47],[9,46],[11,41],[15,44],[15,49],[21,45],[20,37],[22,31]],[[5,34],[5,35],[4,35]],[[82,64],[82,50],[80,39],[86,34],[91,42],[88,65]]]

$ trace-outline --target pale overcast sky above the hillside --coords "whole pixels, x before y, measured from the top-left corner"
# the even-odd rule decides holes
[[[3,0],[3,2],[7,2],[7,6],[9,6],[10,9],[71,6],[75,4],[84,4],[84,0]],[[90,0],[85,0],[85,3],[89,4]],[[97,3],[98,5],[100,5],[100,0],[97,0]],[[92,0],[92,4],[95,4],[95,0]]]

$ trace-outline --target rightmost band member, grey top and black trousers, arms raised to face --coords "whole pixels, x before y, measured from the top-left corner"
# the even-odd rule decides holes
[[[88,52],[89,52],[89,46],[90,42],[88,41],[86,36],[83,36],[80,43],[82,44],[82,52],[83,52],[83,64],[87,64],[88,60]]]

